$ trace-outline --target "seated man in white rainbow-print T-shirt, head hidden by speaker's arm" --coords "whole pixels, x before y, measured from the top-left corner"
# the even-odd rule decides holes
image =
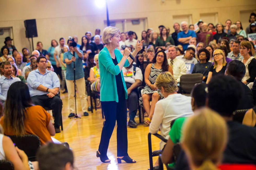
[[[138,96],[137,96],[137,87],[142,84],[143,75],[139,67],[135,67],[130,64],[129,67],[123,67],[124,81],[127,88],[127,103],[129,109],[129,122],[128,126],[136,128],[138,124],[135,122],[134,118],[138,109]]]

